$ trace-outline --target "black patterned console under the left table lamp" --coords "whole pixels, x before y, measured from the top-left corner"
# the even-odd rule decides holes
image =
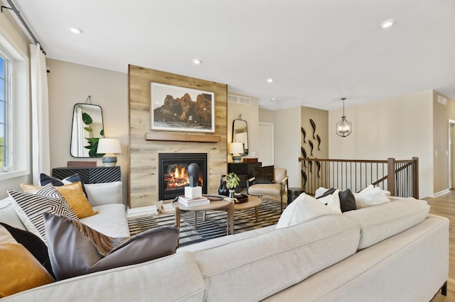
[[[119,166],[87,168],[63,167],[52,169],[52,176],[58,179],[64,179],[76,173],[79,173],[80,179],[84,181],[85,184],[122,181],[122,174]]]

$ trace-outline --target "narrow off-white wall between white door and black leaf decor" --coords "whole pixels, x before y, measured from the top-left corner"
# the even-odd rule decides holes
[[[300,187],[301,109],[275,111],[274,120],[274,166],[287,169],[289,186]]]

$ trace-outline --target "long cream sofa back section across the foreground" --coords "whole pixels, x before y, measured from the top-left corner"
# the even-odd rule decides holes
[[[168,257],[2,301],[427,302],[445,289],[449,272],[449,220],[428,211],[425,201],[398,198],[326,213],[188,245]]]

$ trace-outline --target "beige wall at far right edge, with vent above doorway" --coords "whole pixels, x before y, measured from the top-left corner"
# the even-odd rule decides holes
[[[438,96],[446,98],[447,104],[438,103]],[[434,194],[449,188],[449,120],[455,120],[455,101],[433,91],[433,157]],[[452,128],[453,129],[453,128]],[[454,167],[453,162],[451,163]],[[452,179],[452,187],[454,180]]]

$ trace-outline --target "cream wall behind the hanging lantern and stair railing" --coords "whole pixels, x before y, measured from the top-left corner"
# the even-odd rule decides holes
[[[353,133],[341,138],[328,132],[328,157],[343,160],[410,160],[419,157],[419,198],[433,196],[433,91],[349,106]],[[328,112],[335,125],[343,110]],[[333,127],[334,128],[334,127]]]

